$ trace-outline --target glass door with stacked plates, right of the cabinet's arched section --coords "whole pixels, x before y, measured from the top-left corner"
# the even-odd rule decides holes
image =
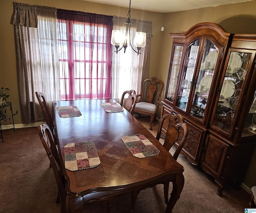
[[[238,110],[238,102],[242,101],[240,100],[240,94],[244,88],[244,80],[251,56],[251,53],[235,51],[231,51],[229,55],[225,76],[219,90],[220,95],[216,100],[218,104],[212,121],[214,127],[227,134],[230,133],[232,125],[234,125],[233,121]]]

